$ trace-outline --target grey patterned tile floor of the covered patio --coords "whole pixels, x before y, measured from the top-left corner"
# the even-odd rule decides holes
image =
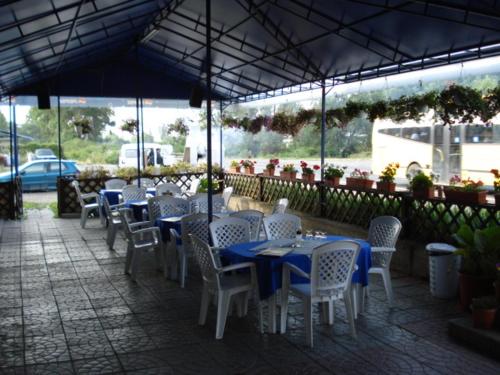
[[[230,317],[223,340],[215,314],[197,325],[198,269],[186,289],[166,281],[151,255],[137,283],[123,274],[123,241],[106,247],[90,220],[32,211],[5,222],[0,244],[0,374],[500,374],[495,362],[452,342],[454,302],[432,298],[427,284],[395,277],[397,307],[372,283],[358,339],[343,310],[333,329],[315,324],[304,345],[301,306],[291,306],[285,335],[260,335],[253,312]]]

